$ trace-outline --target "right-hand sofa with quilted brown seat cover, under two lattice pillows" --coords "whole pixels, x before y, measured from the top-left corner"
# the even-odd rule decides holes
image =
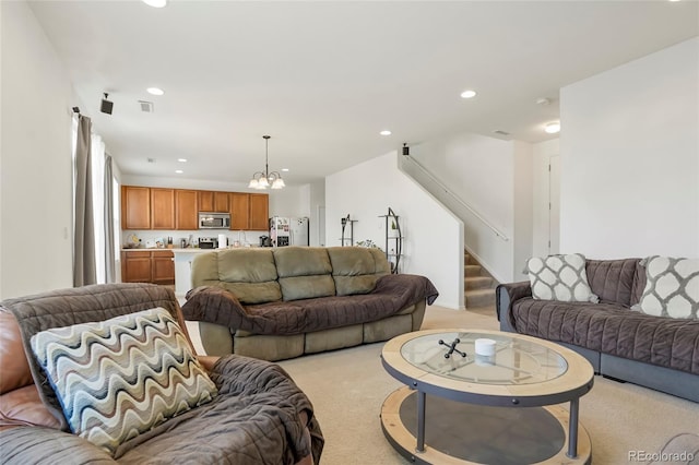
[[[559,343],[599,374],[699,402],[699,320],[631,310],[647,284],[639,259],[587,260],[599,302],[532,297],[530,282],[496,290],[500,330]]]

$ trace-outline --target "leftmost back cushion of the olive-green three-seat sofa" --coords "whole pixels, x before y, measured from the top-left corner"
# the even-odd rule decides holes
[[[221,287],[241,303],[281,300],[276,278],[271,249],[227,249],[202,253],[192,261],[192,287]]]

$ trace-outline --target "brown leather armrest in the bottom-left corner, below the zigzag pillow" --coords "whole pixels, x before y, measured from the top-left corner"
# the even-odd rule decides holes
[[[116,464],[111,456],[79,436],[52,428],[16,427],[0,431],[0,463],[54,465],[59,457],[71,464]]]

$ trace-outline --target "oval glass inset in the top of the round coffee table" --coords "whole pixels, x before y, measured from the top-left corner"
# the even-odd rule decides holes
[[[493,355],[475,353],[475,341],[479,338],[495,341]],[[459,339],[454,345],[455,350],[449,354],[455,339]],[[449,357],[445,357],[446,355]],[[506,334],[428,334],[403,344],[401,356],[408,363],[429,373],[478,384],[541,383],[560,377],[568,369],[565,358],[555,350]]]

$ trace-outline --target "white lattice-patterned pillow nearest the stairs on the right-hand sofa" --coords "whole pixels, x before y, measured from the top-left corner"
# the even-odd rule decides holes
[[[562,302],[599,302],[585,273],[585,258],[580,253],[532,258],[526,261],[532,297]]]

